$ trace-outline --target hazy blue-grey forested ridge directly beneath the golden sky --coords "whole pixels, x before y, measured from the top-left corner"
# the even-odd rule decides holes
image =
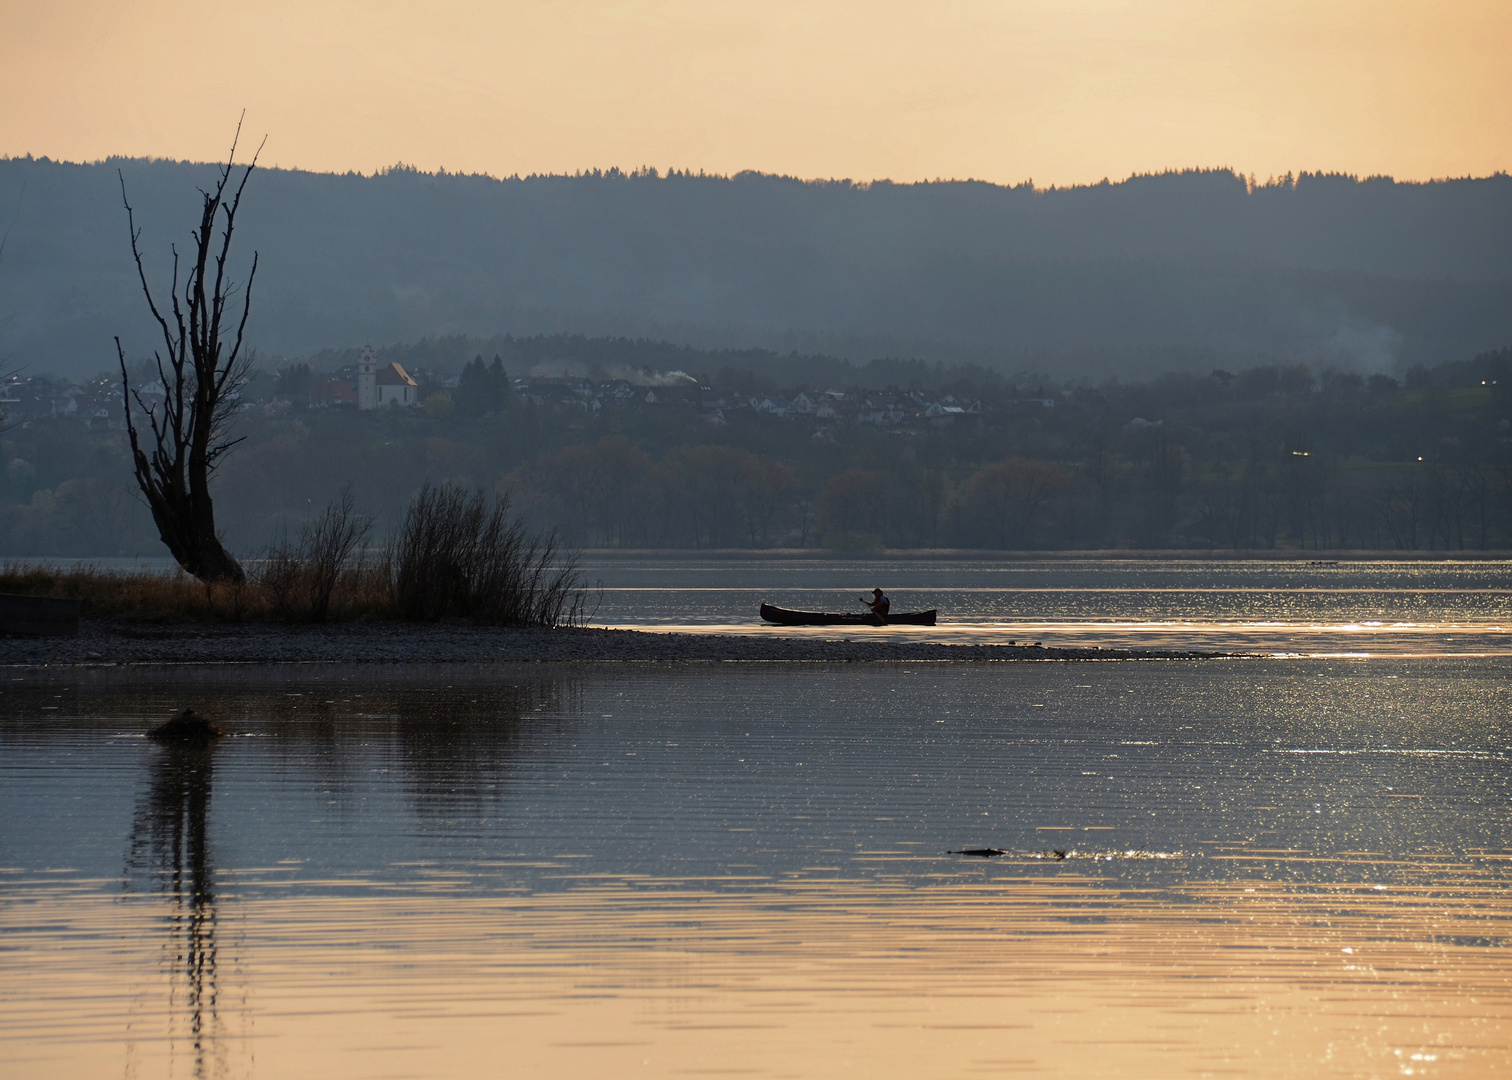
[[[0,355],[86,377],[151,327],[213,166],[0,160]],[[617,169],[491,178],[265,169],[263,355],[437,334],[588,333],[1055,375],[1308,363],[1403,372],[1512,342],[1512,177],[1231,171],[1036,189]]]

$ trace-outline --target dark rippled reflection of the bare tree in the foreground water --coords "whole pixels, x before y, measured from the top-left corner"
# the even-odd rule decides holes
[[[215,874],[207,833],[215,747],[169,744],[156,755],[132,821],[127,883],[147,879],[148,888],[169,898],[171,1030],[186,1018],[194,1075],[218,1075],[225,1062],[218,1045]]]

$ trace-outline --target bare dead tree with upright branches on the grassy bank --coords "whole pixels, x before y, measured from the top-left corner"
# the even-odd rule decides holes
[[[215,531],[215,510],[210,502],[210,475],[221,457],[240,439],[228,439],[236,389],[245,381],[251,354],[242,352],[242,337],[246,331],[246,316],[253,310],[253,278],[257,277],[257,253],[246,275],[245,289],[239,289],[227,274],[231,254],[231,233],[236,228],[236,212],[242,204],[242,192],[248,177],[257,166],[257,154],[242,166],[242,175],[233,186],[236,142],[242,124],[236,124],[231,153],[219,168],[219,180],[213,191],[201,191],[204,207],[200,227],[194,231],[195,254],[189,274],[178,289],[178,248],[174,253],[172,319],[163,316],[147,283],[142,266],[141,230],[125,197],[125,177],[121,180],[121,203],[125,204],[125,219],[132,233],[132,256],[136,259],[136,274],[142,283],[147,307],[163,333],[163,351],[156,352],[157,378],[163,387],[162,404],[148,405],[142,395],[133,390],[125,371],[125,349],[115,339],[121,362],[121,389],[125,396],[125,430],[132,442],[132,463],[136,483],[147,498],[157,523],[157,534],[184,570],[200,581],[234,582],[245,579],[240,564],[231,557]],[[265,139],[266,142],[266,139]],[[259,147],[262,153],[262,147]],[[215,233],[221,222],[219,237]],[[234,336],[227,333],[231,325],[233,306],[240,292],[240,313],[234,319]],[[165,358],[166,354],[166,358]],[[132,402],[147,419],[151,445],[144,451]]]

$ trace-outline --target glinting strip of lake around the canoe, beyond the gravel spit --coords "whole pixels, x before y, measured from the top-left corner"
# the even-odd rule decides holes
[[[635,629],[792,634],[761,623],[762,601],[860,611],[939,610],[939,626],[888,628],[925,641],[1101,644],[1321,656],[1512,652],[1504,561],[1217,560],[658,560],[594,554],[594,623]],[[856,635],[857,628],[804,628]]]

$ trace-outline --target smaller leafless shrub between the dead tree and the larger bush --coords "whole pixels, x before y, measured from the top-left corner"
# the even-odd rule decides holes
[[[286,538],[268,552],[260,584],[272,607],[284,619],[324,623],[339,588],[361,591],[361,546],[370,531],[372,519],[357,513],[352,489],[343,487],[305,523],[298,545]]]

